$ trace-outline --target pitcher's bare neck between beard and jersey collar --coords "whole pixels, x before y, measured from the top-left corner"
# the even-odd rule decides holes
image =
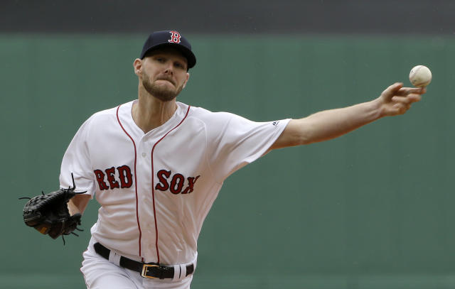
[[[139,102],[135,102],[132,107],[132,116],[137,126],[148,133],[171,119],[176,109],[176,99],[162,102],[151,95],[139,94]]]

